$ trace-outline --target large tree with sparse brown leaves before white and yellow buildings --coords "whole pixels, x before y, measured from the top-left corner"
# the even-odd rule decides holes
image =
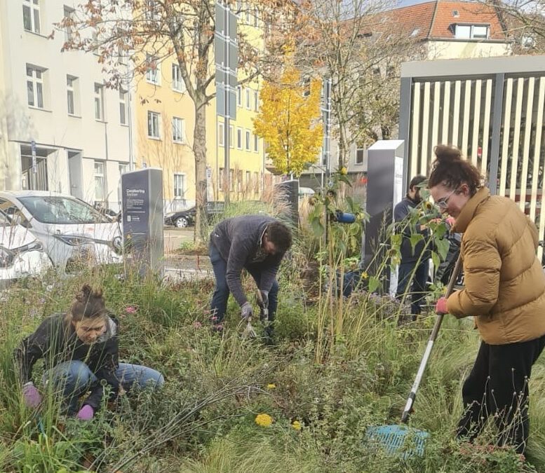
[[[245,18],[258,16],[260,25],[274,25],[284,4],[277,0],[229,1]],[[286,1],[286,8],[290,8]],[[162,60],[177,60],[187,94],[194,104],[193,153],[196,180],[196,238],[206,223],[206,107],[215,97],[213,43],[215,1],[212,0],[88,0],[58,22],[67,36],[64,49],[92,52],[103,64],[106,85],[119,88],[130,76],[141,77]],[[244,81],[253,81],[274,61],[257,48],[255,35],[238,29],[238,67]],[[278,49],[270,48],[269,53]],[[119,67],[130,60],[130,73]]]

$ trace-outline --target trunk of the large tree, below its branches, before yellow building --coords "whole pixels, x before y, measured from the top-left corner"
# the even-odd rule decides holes
[[[197,92],[195,103],[195,128],[193,132],[193,153],[195,156],[195,241],[206,239],[206,104]]]

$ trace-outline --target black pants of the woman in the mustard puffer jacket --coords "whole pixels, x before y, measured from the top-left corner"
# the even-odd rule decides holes
[[[494,416],[498,445],[512,445],[524,453],[528,440],[532,365],[545,346],[545,336],[535,340],[489,345],[482,342],[473,369],[464,382],[464,416],[457,435],[472,441]]]

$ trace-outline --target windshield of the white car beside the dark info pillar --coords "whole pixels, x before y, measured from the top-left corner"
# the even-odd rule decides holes
[[[110,220],[90,205],[70,197],[20,197],[22,205],[42,224],[105,224]]]

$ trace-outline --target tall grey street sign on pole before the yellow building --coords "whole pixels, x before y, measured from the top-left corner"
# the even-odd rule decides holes
[[[228,4],[217,3],[215,6],[216,26],[214,36],[216,114],[224,118],[224,170],[227,191],[225,203],[229,203],[231,188],[229,163],[229,121],[236,120],[236,87],[238,78],[238,44],[236,42],[236,15]]]

